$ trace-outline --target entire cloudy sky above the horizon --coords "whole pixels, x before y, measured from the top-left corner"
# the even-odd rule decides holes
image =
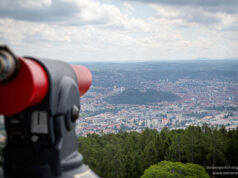
[[[238,58],[238,0],[0,0],[0,44],[67,62]]]

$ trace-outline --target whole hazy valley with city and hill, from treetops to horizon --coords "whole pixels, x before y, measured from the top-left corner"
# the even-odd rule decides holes
[[[238,126],[237,60],[84,65],[94,80],[81,99],[78,135]]]

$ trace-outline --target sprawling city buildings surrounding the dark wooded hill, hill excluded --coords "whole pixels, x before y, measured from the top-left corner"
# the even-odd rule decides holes
[[[123,76],[123,71],[121,74],[118,71],[117,75]],[[130,69],[127,69],[128,71]],[[95,74],[94,70],[92,72]],[[103,87],[96,81],[86,97],[81,99],[81,114],[76,132],[78,135],[86,136],[90,133],[141,132],[145,128],[158,131],[164,127],[184,129],[189,125],[203,124],[209,127],[225,126],[227,129],[235,129],[238,126],[238,83],[237,73],[233,74],[234,76],[227,80],[217,76],[211,78],[208,76],[207,79],[201,76],[201,79],[197,77],[194,79],[186,75],[175,80],[165,77],[137,82],[138,85],[134,85],[133,88],[142,92],[153,89],[158,92],[171,92],[180,97],[179,100],[172,102],[151,104],[110,104],[106,98],[123,93],[132,86],[128,87],[127,83],[125,86],[123,83],[119,85],[114,83]],[[111,75],[103,79],[100,78],[102,76],[98,78],[97,73],[95,75],[95,80],[112,80]]]

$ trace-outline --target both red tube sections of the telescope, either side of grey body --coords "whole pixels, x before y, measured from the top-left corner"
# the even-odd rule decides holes
[[[19,69],[9,81],[0,82],[0,114],[11,116],[40,103],[47,95],[49,78],[40,63],[32,59],[17,58]],[[92,74],[84,66],[72,65],[83,96],[92,83]],[[1,73],[0,73],[1,74]]]

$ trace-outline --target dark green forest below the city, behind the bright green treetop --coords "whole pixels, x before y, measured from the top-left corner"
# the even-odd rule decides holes
[[[79,137],[79,152],[85,163],[105,178],[141,177],[151,165],[163,160],[199,164],[212,176],[218,166],[232,169],[238,165],[237,150],[238,128],[228,131],[207,125]]]

